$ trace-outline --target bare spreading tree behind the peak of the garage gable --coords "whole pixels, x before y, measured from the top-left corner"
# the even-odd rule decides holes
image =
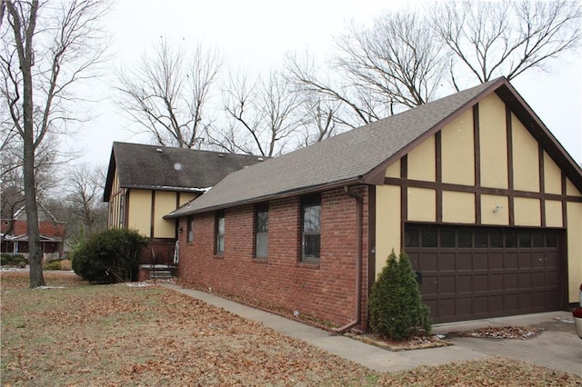
[[[429,15],[454,55],[450,74],[457,90],[459,75],[466,73],[484,83],[545,68],[582,38],[581,6],[570,0],[448,2]]]

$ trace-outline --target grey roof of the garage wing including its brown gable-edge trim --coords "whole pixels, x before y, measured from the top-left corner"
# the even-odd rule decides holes
[[[537,141],[548,147],[548,154],[561,161],[558,165],[567,171],[570,180],[582,186],[579,166],[507,79],[497,78],[230,174],[208,193],[168,217],[344,184],[383,184],[387,166],[491,93],[497,93]]]

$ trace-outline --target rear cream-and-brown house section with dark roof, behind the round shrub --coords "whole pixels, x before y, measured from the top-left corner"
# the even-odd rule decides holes
[[[133,229],[150,247],[142,263],[172,263],[178,233],[166,213],[205,193],[227,174],[263,159],[166,146],[114,143],[105,181],[108,226]]]

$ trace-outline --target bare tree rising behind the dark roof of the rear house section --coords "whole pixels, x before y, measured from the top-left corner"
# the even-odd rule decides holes
[[[196,45],[191,55],[165,39],[143,55],[135,70],[118,73],[120,106],[151,134],[156,144],[200,148],[212,123],[207,111],[222,59],[216,50]]]

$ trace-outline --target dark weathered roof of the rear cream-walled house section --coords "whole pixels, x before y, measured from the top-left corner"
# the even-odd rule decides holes
[[[115,142],[105,181],[104,201],[109,201],[115,170],[120,188],[204,192],[227,174],[262,160],[262,157],[247,154]]]

